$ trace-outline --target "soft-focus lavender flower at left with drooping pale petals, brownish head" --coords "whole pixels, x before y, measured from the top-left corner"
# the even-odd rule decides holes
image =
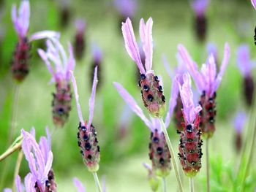
[[[69,58],[64,51],[59,39],[48,39],[46,42],[47,50],[38,50],[42,60],[48,67],[52,75],[52,82],[56,83],[56,93],[53,93],[53,122],[56,126],[64,126],[71,110],[70,92],[70,70],[75,67],[75,58],[73,56],[72,46],[69,44]],[[50,63],[55,65],[55,69]]]

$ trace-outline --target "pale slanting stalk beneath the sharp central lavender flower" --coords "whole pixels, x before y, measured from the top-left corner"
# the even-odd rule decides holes
[[[178,169],[177,169],[177,166],[176,166],[175,155],[173,153],[173,147],[172,147],[172,145],[170,143],[170,138],[169,138],[169,136],[167,134],[164,121],[162,120],[162,118],[159,118],[159,121],[161,123],[162,132],[165,135],[165,140],[167,142],[167,146],[168,146],[168,149],[170,151],[170,156],[171,156],[170,159],[172,160],[173,168],[174,168],[174,171],[175,171],[175,174],[176,174],[176,179],[177,179],[177,182],[178,182],[178,191],[182,192],[183,188],[182,188],[182,185],[181,185],[181,178],[179,177]]]

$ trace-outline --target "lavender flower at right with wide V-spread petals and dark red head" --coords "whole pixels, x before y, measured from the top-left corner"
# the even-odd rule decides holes
[[[230,58],[230,47],[227,43],[225,44],[224,58],[222,60],[222,66],[220,66],[219,74],[217,74],[217,66],[212,54],[208,57],[206,64],[202,65],[201,71],[199,72],[197,70],[197,64],[195,61],[192,61],[192,58],[183,45],[178,45],[178,51],[181,54],[189,73],[195,80],[197,91],[201,94],[199,103],[203,107],[203,110],[200,112],[200,128],[203,132],[203,137],[210,138],[215,131],[214,118],[216,115],[216,91],[217,88],[219,88],[219,84]]]

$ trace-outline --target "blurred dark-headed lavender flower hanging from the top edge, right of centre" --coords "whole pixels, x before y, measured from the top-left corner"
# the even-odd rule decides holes
[[[197,39],[203,42],[206,39],[207,19],[206,9],[208,7],[209,0],[195,0],[192,2],[191,7],[195,11],[195,31]]]

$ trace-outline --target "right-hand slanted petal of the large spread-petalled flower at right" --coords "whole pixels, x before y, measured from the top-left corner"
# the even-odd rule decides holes
[[[225,50],[224,50],[224,58],[222,60],[222,66],[220,66],[219,74],[217,76],[217,80],[214,83],[214,88],[213,88],[214,91],[216,91],[217,88],[219,87],[219,84],[220,84],[220,82],[222,80],[222,76],[223,76],[223,74],[225,72],[225,69],[227,67],[229,59],[230,59],[230,46],[226,42],[225,43]]]

